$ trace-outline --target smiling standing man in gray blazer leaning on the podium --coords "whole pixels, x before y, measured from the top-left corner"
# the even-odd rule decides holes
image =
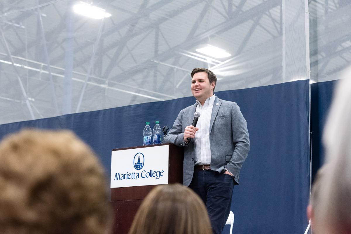
[[[250,149],[246,121],[235,102],[213,94],[217,77],[206,68],[191,72],[196,103],[181,110],[164,142],[184,148],[183,185],[204,201],[214,234],[221,234],[230,212],[234,184]],[[192,126],[194,112],[200,117]]]

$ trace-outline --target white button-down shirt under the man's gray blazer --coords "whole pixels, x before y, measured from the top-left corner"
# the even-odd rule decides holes
[[[215,98],[216,95],[213,94],[206,99],[204,105],[196,101],[196,111],[200,112],[200,117],[196,124],[199,130],[195,134],[195,165],[211,163],[210,121]]]

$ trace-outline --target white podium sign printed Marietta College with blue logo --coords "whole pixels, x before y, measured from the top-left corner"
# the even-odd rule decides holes
[[[168,184],[168,147],[112,151],[111,188]]]

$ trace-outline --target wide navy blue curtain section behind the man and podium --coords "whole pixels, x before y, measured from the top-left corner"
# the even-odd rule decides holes
[[[309,81],[216,92],[234,101],[247,121],[251,150],[234,187],[236,234],[297,234],[307,226]],[[142,144],[145,122],[172,126],[193,97],[0,125],[0,138],[22,128],[71,129],[110,174],[111,150]],[[64,146],[63,146],[64,147]],[[225,229],[225,233],[229,228]]]

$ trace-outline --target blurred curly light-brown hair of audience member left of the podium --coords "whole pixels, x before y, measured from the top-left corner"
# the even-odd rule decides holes
[[[0,143],[1,234],[104,234],[104,169],[71,131],[23,130]]]

